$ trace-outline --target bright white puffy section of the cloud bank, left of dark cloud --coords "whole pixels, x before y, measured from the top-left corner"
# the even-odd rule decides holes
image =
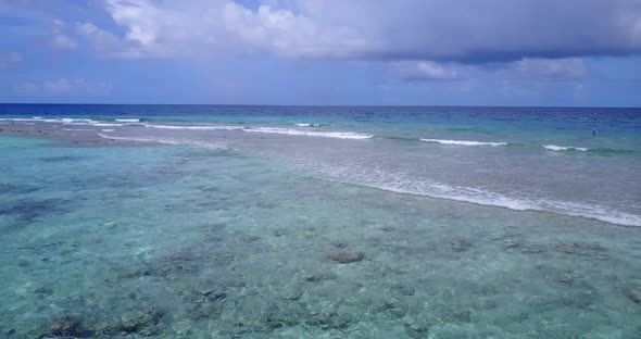
[[[234,50],[350,58],[360,48],[369,49],[369,42],[349,26],[319,26],[307,16],[269,5],[253,11],[226,0],[108,0],[105,9],[124,35],[88,22],[78,23],[77,32],[110,56],[174,58]]]

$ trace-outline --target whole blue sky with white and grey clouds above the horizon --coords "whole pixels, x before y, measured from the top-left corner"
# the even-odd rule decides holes
[[[641,0],[0,0],[0,102],[641,106]]]

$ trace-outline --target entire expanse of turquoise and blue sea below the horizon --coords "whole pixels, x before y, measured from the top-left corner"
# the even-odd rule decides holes
[[[0,337],[641,337],[641,109],[1,104],[0,159]]]

